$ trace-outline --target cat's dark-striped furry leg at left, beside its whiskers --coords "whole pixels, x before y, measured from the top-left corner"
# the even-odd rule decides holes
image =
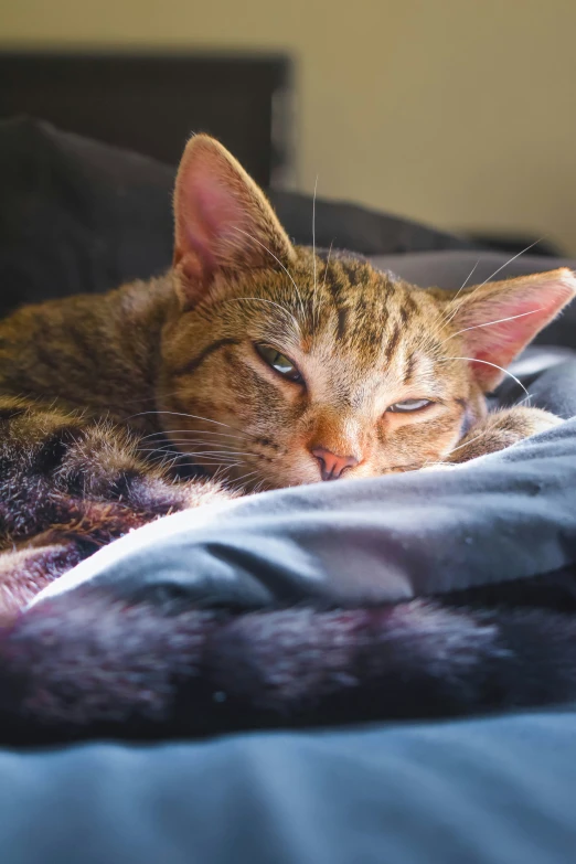
[[[0,548],[82,535],[86,548],[175,510],[231,494],[211,481],[179,483],[140,457],[111,424],[0,401]]]

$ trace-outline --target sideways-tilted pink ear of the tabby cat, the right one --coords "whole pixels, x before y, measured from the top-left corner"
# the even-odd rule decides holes
[[[469,288],[448,300],[446,319],[462,340],[462,355],[484,393],[509,363],[576,294],[576,275],[563,267]],[[452,333],[452,337],[455,334]]]

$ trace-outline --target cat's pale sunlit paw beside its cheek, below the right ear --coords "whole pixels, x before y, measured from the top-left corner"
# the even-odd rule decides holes
[[[505,408],[488,414],[445,457],[448,465],[469,462],[479,456],[503,450],[531,435],[562,423],[559,417],[540,408]]]

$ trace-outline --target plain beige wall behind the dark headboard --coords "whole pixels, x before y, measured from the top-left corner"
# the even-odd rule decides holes
[[[575,0],[3,0],[0,40],[299,61],[298,185],[576,254]]]

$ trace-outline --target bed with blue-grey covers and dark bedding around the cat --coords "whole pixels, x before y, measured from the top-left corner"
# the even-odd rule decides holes
[[[0,175],[4,312],[169,265],[170,168],[13,121],[0,129]],[[307,242],[311,202],[274,199],[289,233]],[[317,218],[326,245],[331,235],[423,286],[458,287],[474,265],[481,280],[505,263],[350,205],[322,203]],[[561,264],[570,266],[523,256],[505,273]],[[168,590],[203,606],[253,608],[510,589],[524,602],[535,590],[576,608],[575,323],[568,310],[515,367],[533,404],[566,423],[478,460],[466,477],[457,469],[342,481],[266,493],[198,520],[177,514],[97,553],[49,591],[105,584],[128,597]],[[522,395],[512,383],[495,398]],[[227,520],[224,543],[216,516],[218,526]],[[570,861],[575,708],[6,747],[2,861]]]

